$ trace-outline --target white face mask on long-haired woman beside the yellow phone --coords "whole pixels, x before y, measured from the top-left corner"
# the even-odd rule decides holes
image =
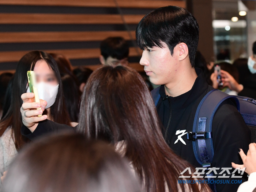
[[[40,82],[37,83],[37,90],[39,99],[47,101],[47,105],[45,107],[45,109],[47,109],[55,102],[59,90],[59,84],[54,86],[49,83]],[[27,93],[30,93],[29,87],[27,88]]]

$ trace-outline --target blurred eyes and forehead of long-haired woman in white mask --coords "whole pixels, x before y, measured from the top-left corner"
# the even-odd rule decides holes
[[[37,83],[45,82],[54,86],[59,84],[55,71],[52,70],[45,60],[38,60],[35,63],[34,72],[36,73]]]

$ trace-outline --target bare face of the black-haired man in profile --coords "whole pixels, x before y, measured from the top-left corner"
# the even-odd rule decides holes
[[[173,56],[168,46],[163,43],[163,48],[153,47],[143,50],[140,64],[155,85],[166,85],[176,79],[178,69],[177,46]]]

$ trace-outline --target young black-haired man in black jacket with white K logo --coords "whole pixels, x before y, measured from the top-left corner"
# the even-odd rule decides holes
[[[202,167],[196,161],[192,141],[186,138],[186,133],[192,132],[197,106],[214,89],[207,84],[202,70],[194,67],[198,39],[196,19],[181,7],[155,9],[136,29],[136,41],[143,50],[140,64],[150,81],[161,85],[156,107],[163,124],[163,137],[176,154],[195,167]],[[237,149],[247,152],[250,131],[233,102],[223,102],[215,113],[212,137],[212,167],[231,168],[233,161],[242,164]],[[234,192],[238,186],[216,184],[218,192]]]

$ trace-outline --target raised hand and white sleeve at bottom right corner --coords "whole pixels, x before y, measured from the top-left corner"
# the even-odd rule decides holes
[[[248,181],[242,183],[237,192],[255,192],[256,191],[256,144],[251,143],[247,155],[242,149],[238,149],[242,158],[243,164],[238,165],[232,162],[233,168],[246,168],[245,172],[248,173]]]

